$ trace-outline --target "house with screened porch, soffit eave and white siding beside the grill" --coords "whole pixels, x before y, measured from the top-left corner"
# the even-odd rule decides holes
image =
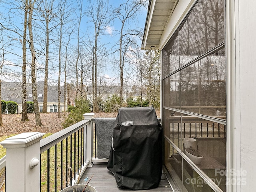
[[[174,191],[256,189],[255,17],[252,0],[149,1],[142,49],[161,51],[164,165]],[[195,140],[200,163],[185,138]]]

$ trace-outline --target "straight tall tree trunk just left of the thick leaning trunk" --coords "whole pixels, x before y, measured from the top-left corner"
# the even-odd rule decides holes
[[[27,110],[27,78],[26,78],[26,36],[27,36],[27,22],[28,22],[28,1],[25,2],[24,10],[24,30],[22,40],[22,116],[21,121],[28,121]]]

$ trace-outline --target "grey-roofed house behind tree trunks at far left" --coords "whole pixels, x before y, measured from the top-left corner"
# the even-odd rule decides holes
[[[27,84],[27,101],[33,102],[31,84]],[[37,82],[38,106],[40,112],[43,109],[44,101],[44,82]],[[18,113],[22,112],[22,83],[17,82],[1,82],[2,100],[14,101],[18,104]],[[48,85],[47,92],[47,112],[58,112],[58,86]],[[61,112],[64,110],[64,86],[60,86],[60,106]]]

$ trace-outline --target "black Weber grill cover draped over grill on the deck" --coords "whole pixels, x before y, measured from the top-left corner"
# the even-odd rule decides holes
[[[120,188],[158,187],[162,175],[162,126],[152,107],[120,108],[108,170]]]

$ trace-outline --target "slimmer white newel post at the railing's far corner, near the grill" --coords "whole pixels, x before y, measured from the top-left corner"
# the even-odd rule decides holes
[[[92,120],[94,118],[94,113],[85,113],[83,114],[84,119]],[[87,137],[86,137],[87,148],[86,150],[86,161],[89,161],[89,166],[92,166],[92,157],[93,157],[93,124],[92,121],[87,125]]]

